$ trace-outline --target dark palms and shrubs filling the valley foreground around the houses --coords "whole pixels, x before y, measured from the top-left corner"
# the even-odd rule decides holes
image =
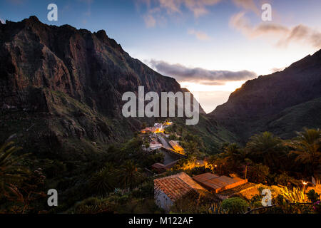
[[[260,190],[279,189],[273,191],[272,202],[276,206],[268,212],[319,211],[317,187],[305,191],[301,180],[318,170],[320,130],[305,129],[293,140],[282,140],[272,133],[253,135],[244,147],[225,142],[217,148],[220,152],[214,154],[208,153],[202,138],[190,130],[175,124],[166,130],[180,136],[180,145],[188,157],[163,175],[182,171],[191,176],[205,172],[233,174],[260,185]],[[41,158],[32,152],[19,155],[20,148],[14,142],[6,143],[0,149],[0,212],[161,213],[153,199],[154,177],[146,168],[163,162],[164,157],[157,150],[143,150],[145,143],[144,138],[136,135],[126,143],[108,145],[92,160],[83,162]],[[282,186],[272,187],[276,185]],[[46,190],[50,188],[60,191],[59,199],[63,202],[54,209],[46,206]],[[171,212],[244,213],[249,207],[262,207],[261,199],[261,195],[252,199],[239,196],[220,203],[208,194],[197,200],[183,197],[175,202]]]

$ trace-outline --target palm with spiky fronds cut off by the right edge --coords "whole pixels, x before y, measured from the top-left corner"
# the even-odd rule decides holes
[[[321,162],[321,130],[307,129],[297,133],[297,138],[285,142],[292,148],[290,153],[297,155],[295,161],[310,165],[314,172]]]

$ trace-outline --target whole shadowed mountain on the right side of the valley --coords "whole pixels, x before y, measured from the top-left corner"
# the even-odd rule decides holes
[[[321,51],[293,63],[282,72],[247,81],[218,106],[218,120],[243,141],[271,131],[291,138],[302,128],[321,128]]]

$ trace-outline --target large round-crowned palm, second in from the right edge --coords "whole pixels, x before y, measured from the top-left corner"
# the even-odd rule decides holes
[[[275,137],[272,133],[262,133],[253,135],[250,141],[246,144],[246,149],[256,162],[262,162],[277,169],[280,167],[280,157],[285,152],[285,147],[279,137]]]

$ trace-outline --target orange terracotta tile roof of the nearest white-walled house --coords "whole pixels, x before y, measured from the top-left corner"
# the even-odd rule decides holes
[[[198,190],[204,190],[185,172],[156,179],[154,180],[154,186],[155,190],[162,190],[173,202],[187,194],[197,194]]]

